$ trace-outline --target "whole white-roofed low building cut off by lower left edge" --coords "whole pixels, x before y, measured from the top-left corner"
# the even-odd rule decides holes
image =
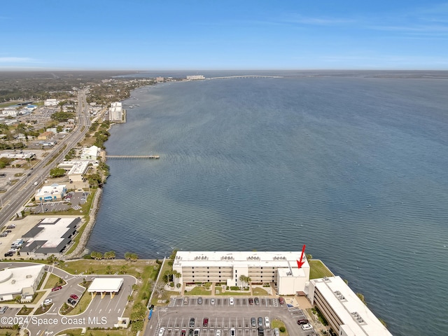
[[[0,271],[0,302],[32,297],[45,274],[44,265],[6,268]]]

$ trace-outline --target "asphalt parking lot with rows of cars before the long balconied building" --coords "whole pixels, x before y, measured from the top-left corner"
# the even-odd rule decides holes
[[[147,335],[160,336],[160,328],[165,328],[162,336],[182,336],[183,330],[188,336],[190,330],[197,330],[198,336],[230,336],[235,328],[235,336],[258,336],[258,318],[262,319],[264,336],[274,336],[273,320],[286,325],[290,336],[314,335],[314,330],[302,330],[297,319],[307,318],[301,309],[279,304],[274,297],[258,297],[259,304],[249,304],[249,297],[172,297],[168,307],[156,308],[151,317],[151,328]],[[255,297],[253,297],[255,298]],[[202,303],[200,303],[202,302]],[[268,318],[269,325],[265,324]],[[193,324],[190,324],[194,318]],[[203,325],[207,318],[207,325]],[[255,323],[251,322],[255,319]],[[192,331],[193,332],[193,331]]]

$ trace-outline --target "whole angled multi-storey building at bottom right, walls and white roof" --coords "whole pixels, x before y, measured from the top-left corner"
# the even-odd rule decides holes
[[[340,276],[313,279],[308,298],[339,336],[391,336]]]

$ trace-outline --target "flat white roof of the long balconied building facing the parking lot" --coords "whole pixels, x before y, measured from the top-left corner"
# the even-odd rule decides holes
[[[241,265],[243,267],[297,268],[297,260],[300,259],[301,253],[301,251],[178,251],[174,266],[195,267],[213,263],[214,267]],[[303,259],[302,268],[309,268],[307,259]]]

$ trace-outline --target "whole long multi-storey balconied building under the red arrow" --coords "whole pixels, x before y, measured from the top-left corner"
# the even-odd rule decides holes
[[[309,282],[309,264],[297,267],[301,251],[296,252],[198,252],[179,251],[173,269],[183,283],[214,282],[244,286],[241,275],[251,283],[274,283],[281,295],[303,292]],[[244,278],[243,278],[244,279]]]

